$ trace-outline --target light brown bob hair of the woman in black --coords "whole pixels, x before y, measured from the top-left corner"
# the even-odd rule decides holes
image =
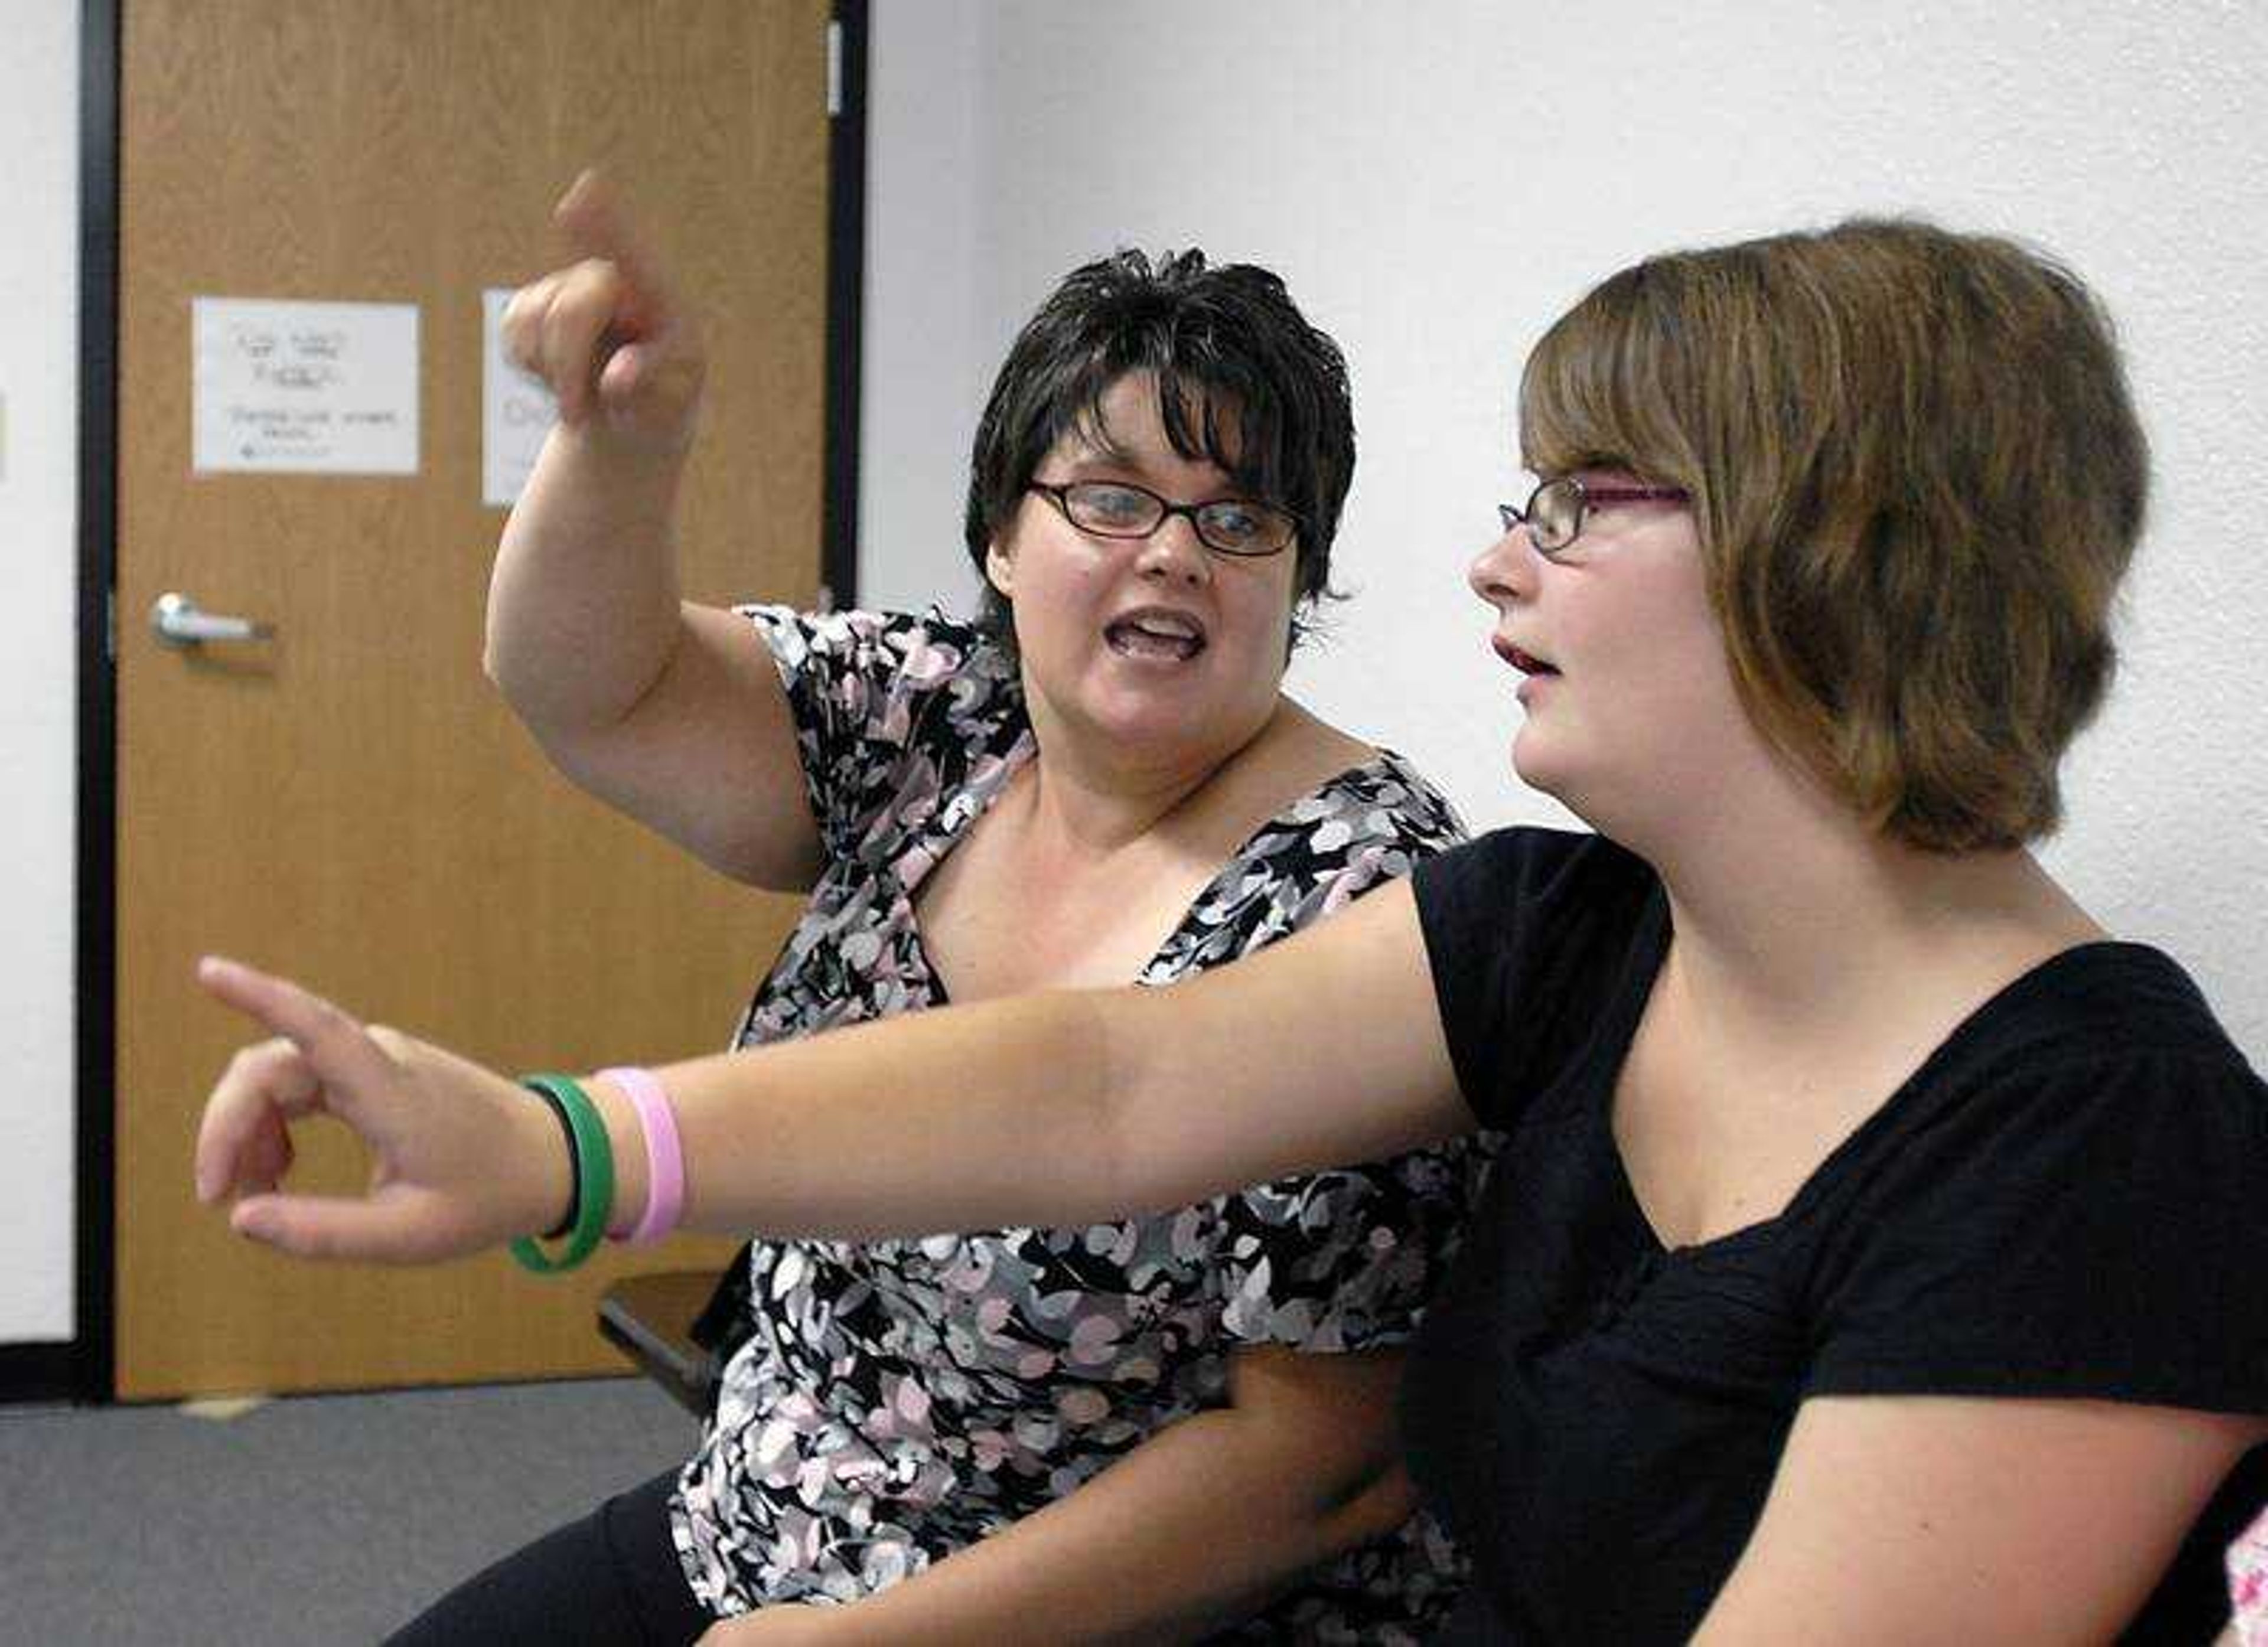
[[[1692,495],[1755,726],[1928,851],[2055,828],[2109,687],[2148,442],[2109,318],[2055,261],[1910,220],[1649,259],[1520,383],[1538,474]]]

